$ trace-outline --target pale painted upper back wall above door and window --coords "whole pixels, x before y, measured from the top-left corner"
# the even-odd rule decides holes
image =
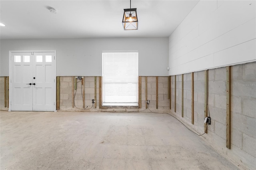
[[[10,50],[56,50],[57,76],[101,76],[102,51],[139,53],[140,76],[167,76],[168,38],[1,40],[0,76],[8,76]]]

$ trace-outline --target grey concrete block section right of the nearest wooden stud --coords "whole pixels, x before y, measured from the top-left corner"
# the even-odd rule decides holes
[[[256,62],[232,66],[231,81],[231,148],[242,163],[255,168]]]

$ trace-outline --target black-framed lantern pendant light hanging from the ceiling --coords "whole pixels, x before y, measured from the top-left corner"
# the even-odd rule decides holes
[[[130,0],[130,9],[124,9],[122,21],[124,30],[138,30],[138,18],[136,10],[137,8],[131,8]]]

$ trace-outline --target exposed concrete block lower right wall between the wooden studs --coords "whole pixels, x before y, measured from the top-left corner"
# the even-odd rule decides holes
[[[234,65],[230,69],[231,149],[226,148],[226,67],[208,70],[208,116],[212,121],[202,138],[240,168],[252,170],[256,162],[256,62]],[[204,133],[204,73],[194,72],[194,125],[189,113],[191,73],[184,74],[183,118],[179,107],[174,112],[174,76],[171,78],[170,114],[198,134]],[[176,75],[177,106],[181,97],[179,77],[181,75]]]

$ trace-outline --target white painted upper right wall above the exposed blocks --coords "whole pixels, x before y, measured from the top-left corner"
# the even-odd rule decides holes
[[[169,75],[251,61],[255,0],[201,0],[169,37]]]

